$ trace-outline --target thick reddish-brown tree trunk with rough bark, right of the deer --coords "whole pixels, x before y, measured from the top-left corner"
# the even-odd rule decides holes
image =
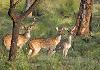
[[[93,0],[81,0],[76,24],[71,33],[74,35],[87,36],[91,31]]]

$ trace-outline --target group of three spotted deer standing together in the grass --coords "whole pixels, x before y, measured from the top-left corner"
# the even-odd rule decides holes
[[[64,31],[68,31],[68,28],[65,27],[56,27],[57,34],[55,37],[49,38],[31,38],[31,31],[34,24],[31,24],[27,27],[24,27],[25,32],[23,34],[19,34],[17,47],[21,49],[26,43],[28,43],[28,56],[36,56],[39,51],[44,48],[47,49],[48,54],[53,54],[56,52],[56,47],[58,44],[62,44],[62,53],[63,56],[66,57],[69,48],[71,47],[72,34],[68,35],[68,41],[62,41],[62,35]],[[3,44],[7,50],[10,50],[11,47],[11,39],[12,34],[7,34],[3,37]]]

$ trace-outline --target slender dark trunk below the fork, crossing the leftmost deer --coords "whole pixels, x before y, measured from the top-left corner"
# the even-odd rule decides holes
[[[10,61],[16,58],[18,35],[19,35],[19,23],[13,21],[11,48],[9,52]]]

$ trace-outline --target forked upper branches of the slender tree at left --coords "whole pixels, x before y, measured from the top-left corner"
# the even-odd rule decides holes
[[[8,15],[11,16],[11,19],[16,22],[23,20],[25,17],[27,17],[31,13],[31,11],[34,9],[34,7],[36,6],[39,0],[35,0],[28,10],[26,10],[23,14],[19,15],[15,12],[15,7],[20,1],[21,0],[18,0],[14,3],[14,0],[10,0],[10,8],[8,11]]]

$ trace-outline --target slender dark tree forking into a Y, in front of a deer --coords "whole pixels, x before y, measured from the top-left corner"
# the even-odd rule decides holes
[[[28,10],[20,14],[16,12],[16,5],[19,4],[21,0],[10,0],[10,8],[8,11],[8,15],[13,21],[11,48],[9,51],[9,59],[8,59],[10,61],[14,60],[16,57],[16,52],[17,52],[16,46],[19,35],[20,22],[30,14],[30,12],[32,11],[32,9],[34,9],[38,1],[39,0],[34,0],[33,4],[28,8]]]

